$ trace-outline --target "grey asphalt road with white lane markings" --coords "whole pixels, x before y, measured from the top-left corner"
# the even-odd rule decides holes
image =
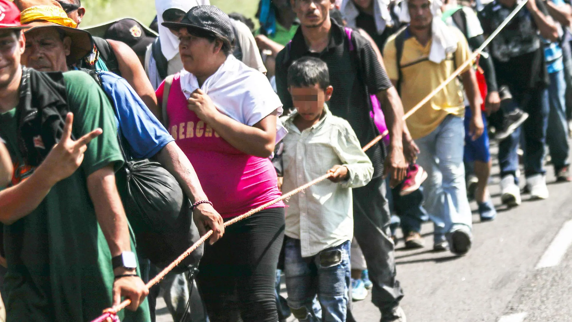
[[[474,244],[466,256],[431,252],[431,223],[423,226],[426,248],[404,250],[399,242],[396,263],[409,322],[572,321],[572,183],[553,183],[552,167],[546,168],[550,198],[529,201],[523,194],[520,207],[506,209],[495,167],[490,189],[499,214],[480,223],[474,211]],[[158,309],[157,322],[173,321]],[[353,304],[353,314],[358,322],[380,319],[370,296]]]

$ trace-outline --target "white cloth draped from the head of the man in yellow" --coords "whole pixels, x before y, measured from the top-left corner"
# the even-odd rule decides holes
[[[433,21],[431,22],[431,52],[429,53],[429,60],[440,64],[445,58],[447,53],[452,53],[457,50],[457,42],[459,41],[455,34],[451,33],[451,29],[441,19],[441,0],[429,0],[431,2],[431,13],[433,14]],[[401,12],[399,14],[401,22],[410,22],[409,10],[407,8],[407,0],[401,3]]]

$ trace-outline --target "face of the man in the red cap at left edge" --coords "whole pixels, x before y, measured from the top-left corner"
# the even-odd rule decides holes
[[[20,57],[24,52],[25,38],[16,36],[14,30],[0,31],[0,89],[10,85],[20,68]]]

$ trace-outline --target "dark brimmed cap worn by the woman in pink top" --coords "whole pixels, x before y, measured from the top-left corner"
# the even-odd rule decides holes
[[[213,33],[223,41],[228,42],[229,45],[233,45],[235,42],[231,18],[216,6],[192,7],[181,19],[181,22],[163,22],[161,25],[175,31],[180,28],[187,28],[189,33],[193,33],[194,29],[199,33],[198,36],[204,34],[205,31]]]

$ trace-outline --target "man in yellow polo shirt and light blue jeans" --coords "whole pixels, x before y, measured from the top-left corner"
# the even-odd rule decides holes
[[[400,91],[406,112],[471,54],[460,30],[434,18],[438,2],[403,1],[400,19],[410,24],[391,36],[384,48],[387,74]],[[460,78],[472,112],[469,131],[475,140],[483,133],[475,72],[468,67]],[[463,87],[455,79],[407,119],[407,127],[420,149],[418,163],[429,174],[423,183],[425,207],[440,221],[435,220],[434,249],[446,250],[448,246],[459,255],[468,252],[472,239],[463,165]]]

